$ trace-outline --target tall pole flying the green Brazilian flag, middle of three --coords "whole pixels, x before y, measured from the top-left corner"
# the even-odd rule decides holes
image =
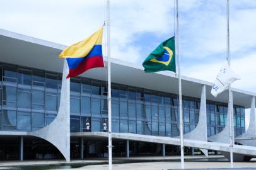
[[[180,47],[179,47],[179,30],[178,30],[178,0],[176,0],[176,16],[177,16],[177,28],[176,28],[176,48],[178,56],[178,100],[179,100],[179,111],[180,111],[180,161],[182,169],[184,169],[184,146],[183,146],[183,113],[182,113],[182,79],[180,77]]]

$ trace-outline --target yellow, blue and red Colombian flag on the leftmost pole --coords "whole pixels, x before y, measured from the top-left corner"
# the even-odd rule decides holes
[[[69,65],[69,77],[75,77],[88,69],[104,67],[102,57],[103,26],[85,40],[64,49],[59,58],[66,58]]]

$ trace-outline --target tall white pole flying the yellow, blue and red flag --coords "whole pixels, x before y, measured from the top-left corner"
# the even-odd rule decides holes
[[[110,0],[107,0],[107,55],[108,55],[108,169],[112,170],[111,135],[111,71],[110,71]]]

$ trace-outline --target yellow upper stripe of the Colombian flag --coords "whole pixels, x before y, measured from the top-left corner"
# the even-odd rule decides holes
[[[65,48],[59,58],[81,58],[88,55],[94,45],[102,45],[103,26],[85,40]]]

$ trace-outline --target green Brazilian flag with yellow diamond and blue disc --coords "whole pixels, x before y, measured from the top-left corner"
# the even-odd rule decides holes
[[[175,38],[160,43],[143,62],[145,72],[173,71],[175,67]]]

